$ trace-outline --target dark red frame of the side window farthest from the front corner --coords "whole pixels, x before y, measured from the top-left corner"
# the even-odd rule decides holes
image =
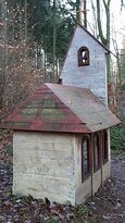
[[[105,137],[107,135],[107,137]],[[105,141],[107,138],[107,141]],[[102,149],[103,149],[103,164],[105,164],[109,161],[109,137],[108,137],[108,129],[103,131],[103,138],[102,138]],[[107,150],[107,158],[105,156],[105,150]]]

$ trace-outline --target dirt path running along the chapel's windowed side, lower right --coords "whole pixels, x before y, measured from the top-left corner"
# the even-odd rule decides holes
[[[111,178],[87,202],[99,223],[125,223],[125,154],[112,159]]]

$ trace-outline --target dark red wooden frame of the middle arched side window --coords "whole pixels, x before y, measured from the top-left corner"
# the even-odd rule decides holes
[[[96,145],[95,145],[95,137],[98,137],[98,168],[96,168]],[[96,133],[93,135],[93,172],[96,173],[100,169],[100,134]]]

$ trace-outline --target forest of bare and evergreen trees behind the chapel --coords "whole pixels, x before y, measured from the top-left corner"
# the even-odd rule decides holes
[[[112,147],[124,147],[125,35],[121,33],[120,46],[113,1],[0,0],[0,120],[39,84],[58,83],[70,38],[80,22],[113,49],[114,55],[107,61],[109,104],[123,123],[112,129]],[[118,2],[122,12],[125,2]]]

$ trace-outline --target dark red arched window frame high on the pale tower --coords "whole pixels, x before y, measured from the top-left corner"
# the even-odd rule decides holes
[[[87,58],[88,58],[85,63],[82,61],[82,51],[84,51],[84,50],[87,51]],[[87,47],[83,46],[78,49],[78,66],[86,66],[86,65],[89,65],[89,64],[90,64],[89,50],[88,50]]]

